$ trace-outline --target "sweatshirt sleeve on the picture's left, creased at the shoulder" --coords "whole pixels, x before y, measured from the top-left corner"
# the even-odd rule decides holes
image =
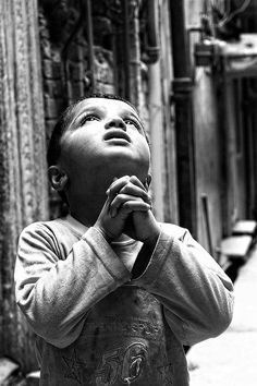
[[[14,272],[16,302],[34,331],[59,348],[79,335],[88,311],[131,274],[102,234],[89,228],[66,258],[53,232],[36,222],[21,233]]]

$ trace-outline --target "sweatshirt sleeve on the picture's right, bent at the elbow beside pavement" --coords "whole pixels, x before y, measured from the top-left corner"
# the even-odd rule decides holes
[[[133,284],[162,303],[166,319],[183,345],[216,337],[231,323],[233,285],[186,229],[161,225],[149,263]]]

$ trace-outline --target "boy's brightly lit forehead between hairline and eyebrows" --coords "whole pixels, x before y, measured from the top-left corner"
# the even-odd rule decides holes
[[[108,98],[99,98],[99,97],[86,98],[79,101],[73,110],[73,114],[74,114],[73,117],[75,118],[84,110],[90,110],[90,109],[101,110],[102,112],[113,111],[115,113],[131,112],[138,117],[136,109],[133,108],[131,105],[126,104],[125,101],[120,99],[108,99]]]

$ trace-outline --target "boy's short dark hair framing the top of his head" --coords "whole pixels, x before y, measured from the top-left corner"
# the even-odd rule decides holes
[[[71,123],[71,116],[72,112],[74,111],[74,108],[83,100],[89,99],[89,98],[105,98],[105,99],[114,99],[114,100],[121,100],[124,101],[125,104],[130,105],[138,114],[138,111],[136,107],[131,104],[128,100],[118,96],[118,95],[112,95],[112,94],[88,94],[85,97],[76,100],[74,104],[70,105],[60,116],[59,120],[57,121],[56,125],[53,126],[52,134],[48,144],[48,150],[47,150],[47,162],[48,167],[57,165],[57,161],[60,157],[61,154],[61,140],[63,134],[65,133],[66,129],[69,128],[69,124]],[[144,132],[145,133],[145,132]],[[145,133],[147,143],[149,144],[148,137]]]

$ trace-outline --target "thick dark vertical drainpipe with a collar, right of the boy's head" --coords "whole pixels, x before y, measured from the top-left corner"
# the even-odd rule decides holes
[[[192,79],[185,28],[184,0],[170,0],[172,84],[175,110],[178,201],[180,225],[196,237],[196,186],[192,116]]]

